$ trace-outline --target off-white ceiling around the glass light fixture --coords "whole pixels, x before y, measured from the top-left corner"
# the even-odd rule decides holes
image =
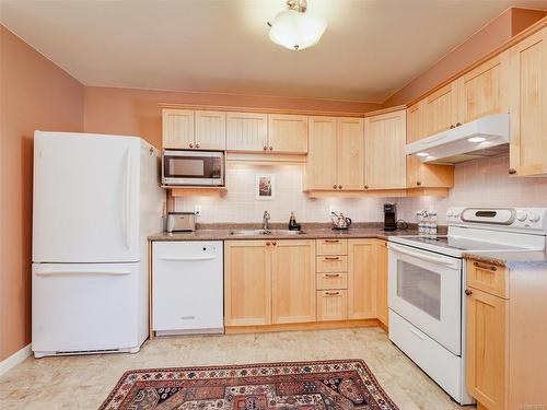
[[[547,0],[309,0],[328,27],[292,51],[284,0],[1,0],[0,21],[85,85],[383,102],[510,5]]]

